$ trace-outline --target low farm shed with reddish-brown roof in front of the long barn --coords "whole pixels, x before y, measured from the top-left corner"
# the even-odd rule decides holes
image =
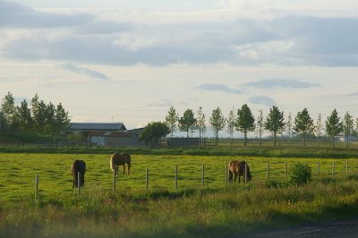
[[[90,132],[90,145],[110,147],[137,147],[141,145],[139,136],[133,132]]]

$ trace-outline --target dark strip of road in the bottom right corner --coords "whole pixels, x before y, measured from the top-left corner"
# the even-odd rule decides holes
[[[281,230],[267,230],[240,237],[354,237],[358,238],[358,217],[312,223]]]

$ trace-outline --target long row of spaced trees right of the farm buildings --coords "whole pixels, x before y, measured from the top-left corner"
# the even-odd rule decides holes
[[[358,128],[358,119],[356,119]],[[195,130],[199,131],[200,138],[203,136],[207,125],[206,116],[202,111],[202,107],[199,107],[197,111],[197,117],[194,116],[192,109],[184,111],[183,116],[179,117],[176,113],[175,108],[171,106],[166,115],[166,125],[169,128],[169,133],[174,136],[174,132],[178,128],[181,132],[186,132],[189,137],[189,132]],[[272,106],[269,109],[269,113],[264,118],[262,110],[259,111],[258,117],[255,119],[251,113],[251,109],[247,104],[244,104],[241,109],[234,112],[234,108],[229,112],[227,118],[222,115],[221,109],[217,107],[214,109],[209,117],[209,127],[211,127],[218,138],[218,132],[227,128],[230,134],[230,138],[233,139],[234,130],[243,132],[243,143],[247,144],[248,132],[256,130],[260,142],[264,131],[270,132],[274,139],[274,145],[277,143],[277,135],[287,132],[288,136],[291,137],[293,134],[299,134],[303,138],[303,146],[306,146],[306,137],[309,134],[315,134],[318,138],[324,135],[324,132],[331,137],[334,142],[334,137],[344,132],[349,140],[349,136],[356,134],[354,130],[354,118],[346,112],[343,120],[337,114],[337,110],[334,109],[331,115],[328,116],[323,126],[321,115],[319,115],[316,123],[313,122],[307,108],[303,111],[298,112],[292,122],[291,114],[288,115],[285,121],[284,112],[280,111],[277,106]],[[217,140],[216,140],[217,141]]]

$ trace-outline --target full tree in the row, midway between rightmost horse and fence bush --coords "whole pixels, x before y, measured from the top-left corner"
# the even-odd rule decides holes
[[[269,109],[268,117],[266,117],[265,129],[272,132],[274,136],[274,145],[276,147],[277,133],[284,130],[284,112],[280,112],[277,106]]]

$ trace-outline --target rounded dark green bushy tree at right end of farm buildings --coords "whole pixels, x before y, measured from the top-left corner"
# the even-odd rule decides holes
[[[167,126],[166,123],[148,123],[147,126],[144,127],[143,132],[141,132],[140,134],[140,140],[144,141],[146,144],[158,144],[159,139],[168,135],[169,133],[170,128]]]

